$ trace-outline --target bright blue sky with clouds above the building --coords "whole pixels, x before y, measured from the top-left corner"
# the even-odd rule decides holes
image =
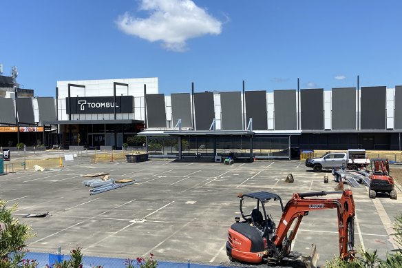
[[[0,63],[56,81],[158,77],[160,93],[402,84],[402,1],[0,0]]]

